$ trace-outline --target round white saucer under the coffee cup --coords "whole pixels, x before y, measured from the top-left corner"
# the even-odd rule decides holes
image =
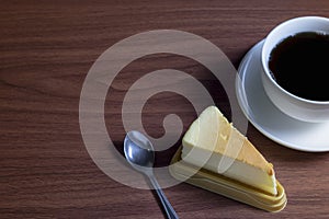
[[[269,100],[261,82],[261,48],[254,45],[242,59],[236,80],[237,96],[249,122],[263,135],[292,149],[329,151],[329,123],[307,123],[282,113]]]

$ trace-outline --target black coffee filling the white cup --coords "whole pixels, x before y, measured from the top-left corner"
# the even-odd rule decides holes
[[[283,39],[271,51],[269,67],[290,93],[329,101],[329,35],[303,32]]]

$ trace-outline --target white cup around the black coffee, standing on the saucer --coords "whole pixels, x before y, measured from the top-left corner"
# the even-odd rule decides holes
[[[310,123],[328,122],[329,101],[311,101],[290,93],[276,83],[269,68],[269,58],[272,49],[286,37],[300,32],[329,34],[329,19],[320,16],[295,18],[273,28],[266,36],[261,51],[262,83],[272,103],[286,115]]]

